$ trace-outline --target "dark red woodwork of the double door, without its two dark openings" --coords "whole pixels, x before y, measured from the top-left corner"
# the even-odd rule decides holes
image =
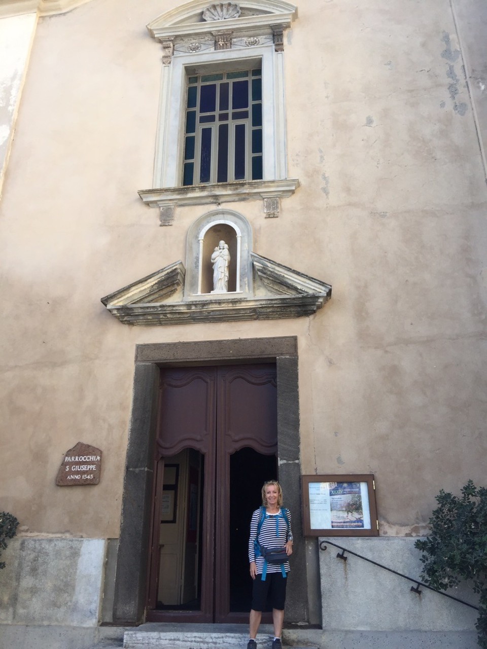
[[[243,622],[248,613],[231,611],[230,606],[230,504],[231,500],[232,503],[242,502],[242,506],[252,511],[259,503],[255,500],[255,493],[233,493],[231,498],[231,456],[242,449],[253,449],[256,454],[269,458],[275,458],[277,454],[275,365],[162,370],[154,511],[159,511],[160,507],[158,500],[164,483],[164,458],[175,456],[185,448],[194,448],[205,458],[200,553],[201,605],[195,611],[156,610],[158,525],[153,516],[147,619]],[[240,468],[245,470],[245,467]],[[248,471],[252,472],[254,468],[250,465]],[[266,475],[264,479],[270,477]],[[232,489],[239,487],[233,483]],[[242,534],[248,535],[248,528],[242,530]]]

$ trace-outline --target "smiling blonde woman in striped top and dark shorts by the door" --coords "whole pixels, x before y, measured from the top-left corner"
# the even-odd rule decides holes
[[[281,564],[268,563],[260,552],[256,552],[255,541],[265,548],[285,547],[287,556],[293,552],[291,513],[289,509],[282,507],[282,489],[277,480],[264,482],[262,508],[255,510],[250,524],[249,563],[250,576],[254,583],[247,649],[256,649],[256,635],[268,597],[274,624],[272,649],[282,649],[281,632],[286,601],[286,576],[290,571],[289,561]]]

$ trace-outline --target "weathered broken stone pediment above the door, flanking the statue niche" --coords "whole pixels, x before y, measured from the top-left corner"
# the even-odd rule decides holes
[[[272,320],[312,315],[331,298],[331,286],[251,252],[253,294],[223,293],[184,299],[181,261],[101,299],[125,324],[188,324]]]

